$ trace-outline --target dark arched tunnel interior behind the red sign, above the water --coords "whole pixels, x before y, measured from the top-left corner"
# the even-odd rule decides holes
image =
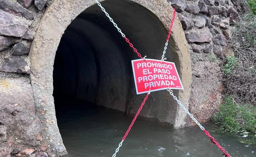
[[[126,0],[105,0],[102,5],[143,57],[161,58],[168,31],[153,13]],[[179,71],[178,56],[171,46],[166,57]],[[131,66],[135,59],[139,58],[98,5],[87,8],[71,22],[60,40],[53,70],[55,111],[62,137],[62,123],[72,125],[70,119],[74,116],[105,115],[102,107],[123,115],[136,113],[144,95],[136,95]],[[141,118],[172,127],[177,107],[172,100],[164,104],[164,92],[150,95]]]

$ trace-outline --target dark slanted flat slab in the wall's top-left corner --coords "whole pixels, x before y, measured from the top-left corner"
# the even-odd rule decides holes
[[[0,9],[16,16],[22,16],[27,20],[33,20],[34,18],[26,9],[8,0],[0,0]]]

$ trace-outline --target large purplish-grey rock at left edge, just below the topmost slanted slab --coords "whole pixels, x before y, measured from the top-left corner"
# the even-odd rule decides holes
[[[24,20],[2,10],[0,10],[0,28],[0,35],[33,40],[33,35]]]

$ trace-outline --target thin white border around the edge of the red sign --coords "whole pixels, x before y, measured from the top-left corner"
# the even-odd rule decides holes
[[[135,61],[139,61],[139,60],[144,60],[144,59],[132,60],[132,66],[133,66],[133,78],[134,78],[134,82],[135,82],[135,88],[136,88],[136,93],[137,93],[137,95],[138,95],[138,94],[143,94],[143,93],[149,93],[149,91],[138,92],[138,88],[137,88],[137,80],[136,80],[136,76],[135,76],[135,72],[134,72],[134,65],[133,65],[133,62],[135,62]],[[155,60],[155,59],[146,59],[146,60]],[[160,62],[161,62],[161,60],[155,60],[155,61],[160,61]],[[164,61],[164,62],[167,62],[167,61]],[[168,62],[168,63],[173,63],[173,64],[174,64],[174,68],[175,68],[175,71],[176,71],[176,73],[177,73],[177,75],[178,75],[178,79],[179,79],[179,81],[181,82],[181,78],[180,78],[180,76],[179,76],[179,74],[178,74],[178,71],[177,71],[177,69],[176,69],[176,65],[175,65],[175,63],[174,63],[174,62]],[[162,90],[164,90],[164,89],[168,89],[168,88],[159,88],[159,89],[155,89],[155,90],[150,90],[150,92],[154,92],[154,91],[162,91]],[[181,82],[181,88],[171,88],[171,89],[179,89],[179,90],[183,90],[184,88],[183,88],[183,85],[182,85],[182,82]]]

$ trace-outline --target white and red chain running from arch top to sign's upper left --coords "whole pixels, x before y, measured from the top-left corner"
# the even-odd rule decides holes
[[[121,33],[122,37],[126,40],[126,42],[129,44],[129,46],[133,49],[133,51],[138,55],[138,57],[140,57],[141,59],[143,59],[142,55],[137,51],[137,49],[135,49],[135,47],[133,46],[132,43],[130,43],[129,39],[126,38],[126,35],[121,31],[121,29],[117,26],[117,24],[114,22],[114,20],[110,17],[109,13],[107,13],[107,11],[105,10],[104,7],[102,7],[101,3],[98,0],[95,0],[98,4],[98,6],[101,8],[101,10],[105,13],[105,15],[107,16],[107,18],[109,18],[110,22],[112,22],[112,24],[114,25],[114,27],[117,28],[117,31],[119,31],[119,33]]]

